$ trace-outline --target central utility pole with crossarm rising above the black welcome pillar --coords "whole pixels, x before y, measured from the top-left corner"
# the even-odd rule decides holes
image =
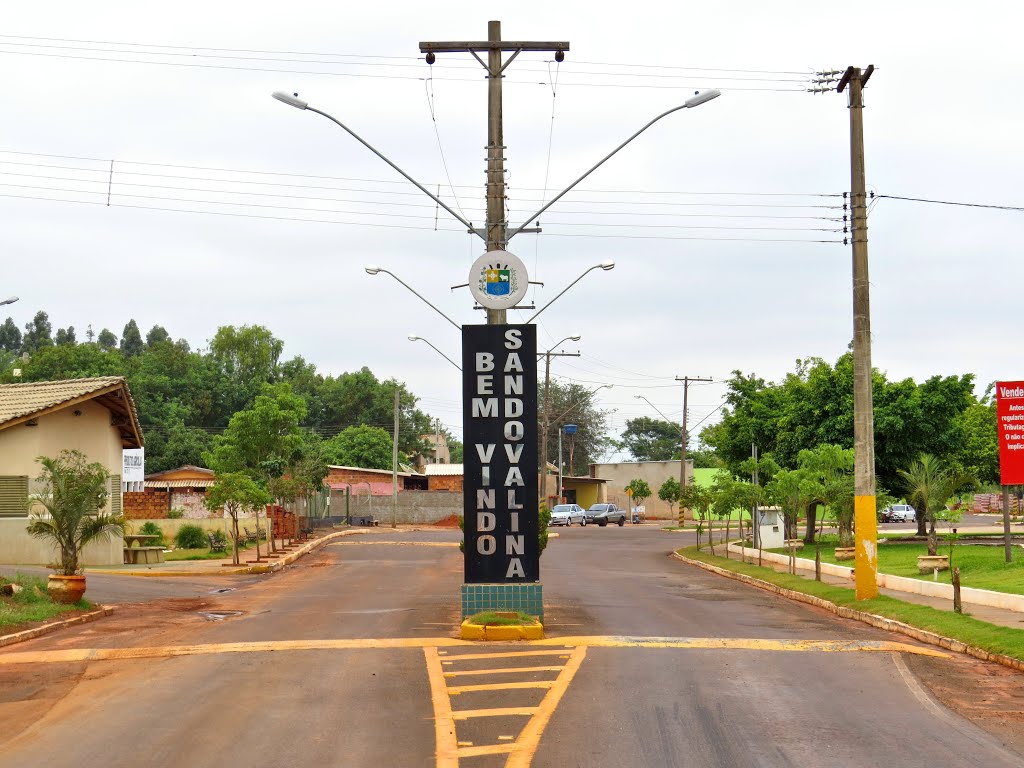
[[[427,63],[432,65],[436,53],[469,51],[487,73],[487,220],[484,239],[487,251],[504,251],[508,245],[508,221],[505,219],[505,139],[502,127],[502,78],[505,69],[524,50],[554,51],[561,61],[569,49],[567,42],[525,42],[502,40],[502,23],[487,22],[487,39],[479,42],[420,43],[420,52],[426,53]],[[486,52],[487,60],[478,55]],[[511,51],[502,63],[502,52]],[[487,309],[487,325],[503,326],[505,309]]]

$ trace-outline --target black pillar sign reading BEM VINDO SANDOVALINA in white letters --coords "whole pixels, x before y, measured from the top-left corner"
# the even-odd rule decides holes
[[[463,326],[466,584],[540,581],[537,327]]]

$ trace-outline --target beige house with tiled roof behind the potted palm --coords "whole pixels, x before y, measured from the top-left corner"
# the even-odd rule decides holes
[[[135,402],[124,377],[0,384],[0,562],[47,563],[48,545],[26,534],[26,499],[40,456],[81,451],[111,472],[109,509],[122,511],[124,449],[142,447]],[[86,549],[86,564],[123,561],[120,537]]]

